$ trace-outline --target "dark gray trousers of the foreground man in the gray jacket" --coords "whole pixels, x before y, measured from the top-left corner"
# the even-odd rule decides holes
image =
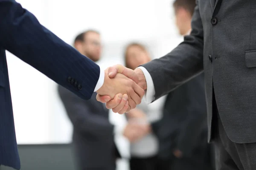
[[[217,105],[213,104],[212,125],[216,170],[256,170],[256,143],[232,142],[224,130]]]

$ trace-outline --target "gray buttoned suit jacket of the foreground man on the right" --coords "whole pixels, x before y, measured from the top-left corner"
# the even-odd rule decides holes
[[[236,143],[256,142],[255,21],[255,0],[197,0],[191,34],[166,56],[143,65],[155,99],[204,70],[209,141],[214,86],[227,136]]]

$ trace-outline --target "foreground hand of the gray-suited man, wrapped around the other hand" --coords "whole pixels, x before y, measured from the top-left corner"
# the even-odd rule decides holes
[[[141,71],[139,68],[136,68],[134,71],[122,65],[115,65],[113,67],[108,68],[108,77],[114,78],[118,73],[123,74],[126,77],[134,80],[134,82],[140,85],[141,88],[146,90],[147,84],[146,84],[145,76],[143,74],[143,71]],[[121,102],[123,100],[120,98],[115,100],[115,98],[111,100],[110,96],[101,96],[99,94],[96,96],[96,99],[99,102],[106,103],[106,107],[108,109],[112,109],[112,111],[115,113],[117,112],[119,114],[124,113],[125,105],[124,105],[124,102]],[[129,112],[130,109],[133,109],[133,108],[128,107],[125,112]]]

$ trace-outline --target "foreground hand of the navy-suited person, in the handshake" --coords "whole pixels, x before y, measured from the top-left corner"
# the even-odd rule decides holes
[[[116,74],[116,76],[112,79],[109,78],[108,69],[105,70],[104,84],[96,92],[101,96],[108,95],[111,99],[113,99],[116,94],[118,94],[119,97],[121,97],[119,94],[127,94],[128,105],[130,106],[130,108],[135,108],[136,105],[140,104],[141,99],[144,95],[144,90],[140,88],[139,85],[137,85],[133,80],[122,74]],[[104,98],[104,102],[106,100],[107,99]]]

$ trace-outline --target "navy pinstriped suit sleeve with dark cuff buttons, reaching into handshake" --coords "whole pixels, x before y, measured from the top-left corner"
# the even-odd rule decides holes
[[[42,26],[15,0],[0,0],[0,23],[0,47],[82,99],[90,99],[99,79],[97,64]],[[76,83],[68,82],[68,77]]]

